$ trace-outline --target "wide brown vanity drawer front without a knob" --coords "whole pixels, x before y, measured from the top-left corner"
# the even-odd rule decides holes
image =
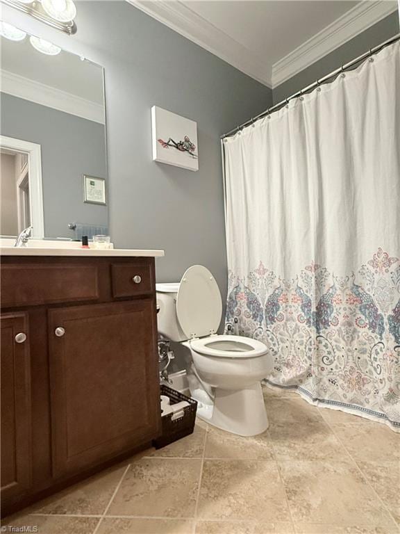
[[[98,298],[98,273],[94,265],[1,266],[2,307]]]

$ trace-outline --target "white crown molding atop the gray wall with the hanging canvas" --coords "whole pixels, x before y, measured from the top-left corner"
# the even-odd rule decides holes
[[[181,0],[127,1],[244,74],[272,88],[271,73],[263,61],[240,42],[195,13],[190,9],[190,3]]]

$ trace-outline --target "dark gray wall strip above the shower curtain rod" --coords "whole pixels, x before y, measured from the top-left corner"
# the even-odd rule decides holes
[[[310,65],[310,67],[274,88],[274,104],[278,104],[283,99],[290,97],[294,92],[310,85],[318,78],[322,78],[340,67],[340,65],[344,65],[344,63],[348,63],[357,56],[364,54],[370,48],[376,47],[381,42],[392,37],[392,35],[396,35],[396,33],[399,33],[399,15],[394,12],[355,38],[347,41],[331,54],[327,54],[324,58]]]

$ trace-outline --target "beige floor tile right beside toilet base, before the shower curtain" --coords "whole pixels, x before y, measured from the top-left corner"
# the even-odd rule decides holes
[[[283,424],[324,423],[318,408],[299,396],[296,398],[267,398],[265,407],[271,427]]]

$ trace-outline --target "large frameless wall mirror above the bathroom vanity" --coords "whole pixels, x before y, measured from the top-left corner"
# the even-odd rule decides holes
[[[0,234],[108,234],[103,67],[4,27]]]

